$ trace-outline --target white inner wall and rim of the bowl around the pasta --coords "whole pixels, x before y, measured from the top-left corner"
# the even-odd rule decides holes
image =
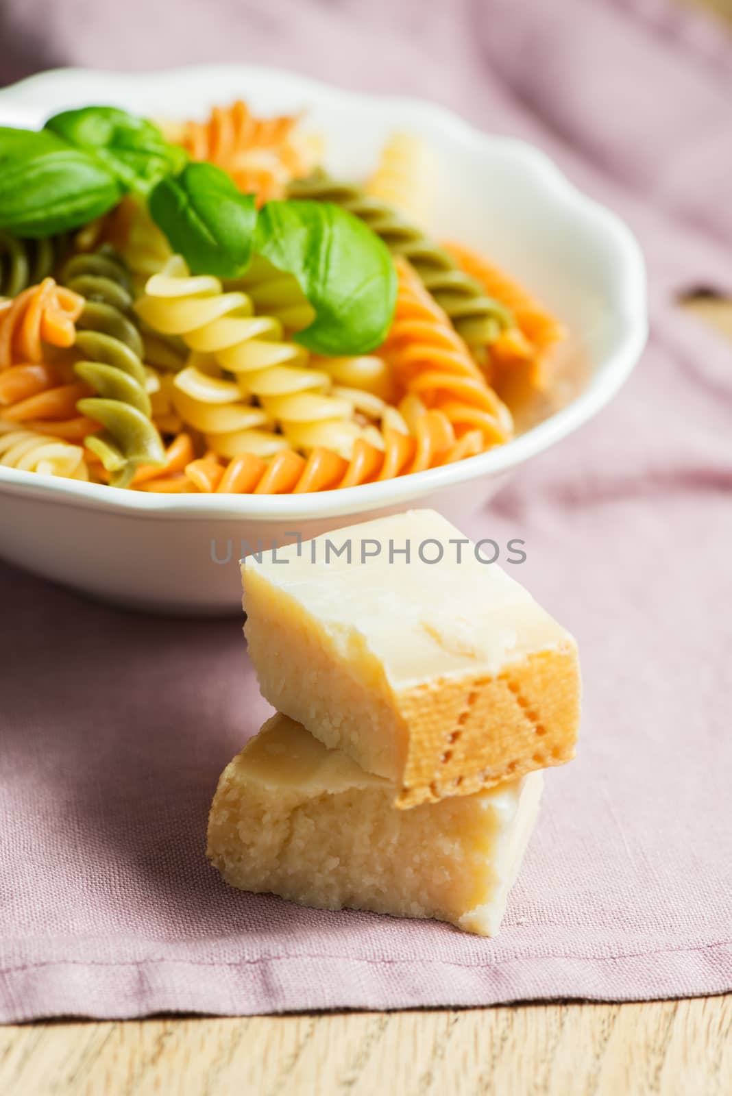
[[[205,117],[211,105],[236,98],[263,113],[304,111],[307,125],[325,138],[327,165],[347,178],[373,169],[381,144],[394,128],[422,135],[436,153],[431,231],[483,251],[523,282],[569,326],[584,358],[587,379],[580,395],[517,441],[401,481],[330,492],[328,500],[319,496],[318,505],[333,509],[333,494],[358,492],[357,502],[342,498],[338,503],[338,509],[347,506],[353,512],[362,505],[398,501],[502,471],[575,429],[617,390],[645,338],[640,251],[618,218],[583,196],[547,157],[521,141],[480,134],[430,103],[354,94],[293,73],[243,66],[147,75],[45,73],[0,92],[0,124],[39,125],[58,110],[93,102],[148,116]],[[26,481],[30,477],[14,475]],[[2,469],[0,479],[5,479]],[[54,489],[90,500],[100,491],[96,484],[72,487],[59,481]],[[111,502],[110,492],[101,490]],[[123,502],[122,493],[114,492],[115,505],[172,511],[187,510],[192,503],[204,509],[215,505],[214,499],[191,496],[142,500],[136,492],[131,492],[134,500]],[[313,506],[316,499],[310,499],[302,504]],[[260,496],[254,503],[238,498],[236,504],[242,513],[244,507],[248,513],[252,507],[270,513],[294,505],[295,500]]]

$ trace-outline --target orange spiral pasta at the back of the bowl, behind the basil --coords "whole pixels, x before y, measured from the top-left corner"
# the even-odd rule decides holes
[[[318,145],[298,129],[298,115],[258,118],[245,103],[215,106],[205,122],[164,125],[191,159],[227,171],[239,190],[260,203],[284,195],[290,179],[312,169]]]

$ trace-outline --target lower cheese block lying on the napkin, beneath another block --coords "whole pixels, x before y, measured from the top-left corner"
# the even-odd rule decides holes
[[[394,788],[277,713],[221,775],[208,858],[241,890],[302,905],[437,917],[494,936],[542,777],[396,810]]]

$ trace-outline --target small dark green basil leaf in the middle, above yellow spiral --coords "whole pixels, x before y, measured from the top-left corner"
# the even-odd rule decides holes
[[[193,274],[237,277],[252,256],[256,205],[213,163],[188,163],[150,194],[150,215]]]

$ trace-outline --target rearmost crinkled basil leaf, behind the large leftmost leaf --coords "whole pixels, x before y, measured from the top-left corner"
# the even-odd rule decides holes
[[[62,111],[46,122],[46,129],[95,156],[126,190],[141,194],[181,171],[187,160],[185,149],[170,145],[152,122],[116,106]]]

